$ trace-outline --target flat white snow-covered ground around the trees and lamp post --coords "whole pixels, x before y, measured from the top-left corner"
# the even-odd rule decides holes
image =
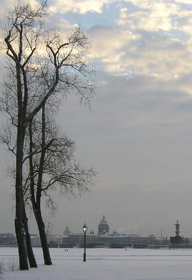
[[[192,249],[50,248],[53,265],[45,266],[41,248],[34,248],[38,268],[6,271],[5,280],[189,280]],[[15,262],[17,248],[0,247],[0,261]]]

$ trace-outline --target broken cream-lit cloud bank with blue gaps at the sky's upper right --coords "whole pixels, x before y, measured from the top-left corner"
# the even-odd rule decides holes
[[[173,1],[131,1],[121,4],[117,26],[88,31],[90,58],[115,75],[178,79],[192,71],[189,38],[192,13]],[[187,35],[188,34],[188,35]]]

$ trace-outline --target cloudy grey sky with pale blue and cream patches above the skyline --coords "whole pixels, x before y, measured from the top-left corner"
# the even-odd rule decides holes
[[[8,11],[13,1],[1,3]],[[191,237],[192,1],[49,0],[48,13],[47,26],[81,25],[97,72],[91,110],[71,94],[58,113],[77,160],[94,166],[95,186],[75,200],[54,193],[53,232],[61,235],[68,222],[79,233],[86,222],[97,233],[104,214],[111,233],[174,236],[179,220],[180,235]],[[0,232],[14,232],[14,188],[0,148]]]

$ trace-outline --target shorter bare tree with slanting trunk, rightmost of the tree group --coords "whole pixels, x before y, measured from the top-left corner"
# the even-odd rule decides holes
[[[44,263],[50,264],[41,198],[46,197],[46,205],[54,214],[57,207],[50,191],[59,188],[60,194],[73,196],[89,191],[94,184],[93,177],[96,173],[92,167],[85,169],[79,163],[75,163],[74,142],[61,132],[49,110],[45,114],[44,106],[41,120],[36,116],[29,124],[29,140],[26,141],[26,145],[29,146],[29,163],[26,162],[23,191],[25,197],[31,199]]]

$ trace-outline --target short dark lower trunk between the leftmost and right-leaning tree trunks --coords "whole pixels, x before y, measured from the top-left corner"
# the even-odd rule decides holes
[[[26,241],[26,251],[28,254],[28,261],[30,264],[30,267],[37,267],[37,262],[33,253],[32,243],[31,243],[31,237],[28,227],[28,217],[26,216],[25,206],[23,204],[23,227],[25,230],[25,241]]]

